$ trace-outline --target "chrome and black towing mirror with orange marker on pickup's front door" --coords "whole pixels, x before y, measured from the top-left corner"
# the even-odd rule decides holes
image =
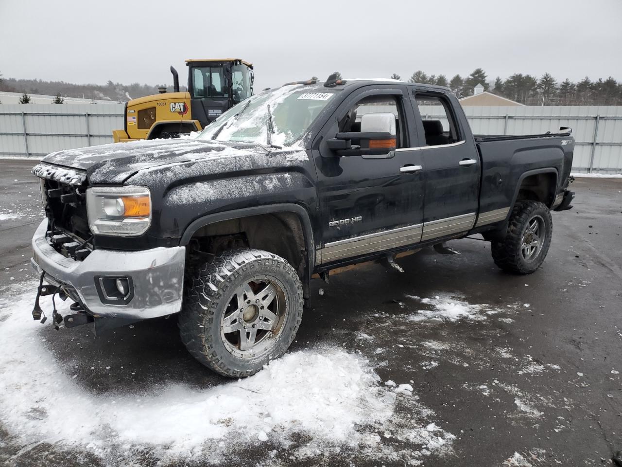
[[[366,113],[361,118],[361,131],[337,133],[326,140],[336,157],[361,156],[363,159],[389,159],[396,148],[395,115]]]

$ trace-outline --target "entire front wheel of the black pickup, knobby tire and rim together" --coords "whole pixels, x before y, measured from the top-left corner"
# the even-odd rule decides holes
[[[203,365],[250,376],[281,357],[302,319],[302,283],[283,258],[239,248],[188,271],[179,330]]]

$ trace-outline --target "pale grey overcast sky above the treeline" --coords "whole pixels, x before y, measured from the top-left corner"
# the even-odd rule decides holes
[[[622,80],[621,0],[0,0],[0,73],[73,83],[185,82],[184,59],[237,57],[256,89],[312,75]]]

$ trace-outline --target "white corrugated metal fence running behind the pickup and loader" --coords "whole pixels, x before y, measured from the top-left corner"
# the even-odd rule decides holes
[[[112,143],[123,104],[0,105],[0,156],[45,156],[60,149]],[[530,134],[570,126],[577,172],[622,172],[622,106],[465,106],[475,134]],[[440,119],[438,106],[421,106]]]

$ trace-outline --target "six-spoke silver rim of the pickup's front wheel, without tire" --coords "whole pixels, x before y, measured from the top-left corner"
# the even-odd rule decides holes
[[[283,288],[275,278],[245,281],[234,291],[221,318],[220,336],[236,357],[260,357],[281,334],[287,314]]]

